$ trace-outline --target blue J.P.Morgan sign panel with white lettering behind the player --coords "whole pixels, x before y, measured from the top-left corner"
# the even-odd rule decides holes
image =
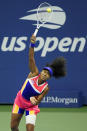
[[[50,91],[40,104],[40,107],[81,107],[82,96],[78,91]]]

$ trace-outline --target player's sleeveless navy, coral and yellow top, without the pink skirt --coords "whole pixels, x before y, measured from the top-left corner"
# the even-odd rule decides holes
[[[27,99],[30,100],[31,96],[37,96],[40,95],[44,89],[47,87],[48,83],[44,82],[41,85],[38,85],[38,76],[32,77],[32,78],[27,78],[26,81],[24,82],[22,89],[21,89],[21,95]]]

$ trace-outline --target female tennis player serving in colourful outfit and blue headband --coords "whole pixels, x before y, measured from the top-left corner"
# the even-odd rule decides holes
[[[34,59],[36,42],[34,35],[32,35],[30,42],[29,68],[31,72],[15,98],[11,115],[11,131],[19,131],[18,126],[24,111],[26,112],[26,131],[34,131],[36,116],[40,112],[38,104],[49,90],[47,80],[52,76],[59,78],[66,74],[65,59],[63,57],[56,58],[39,73]]]

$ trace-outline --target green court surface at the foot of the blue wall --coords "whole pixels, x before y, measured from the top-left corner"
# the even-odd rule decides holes
[[[0,131],[10,131],[12,105],[0,105]],[[20,131],[26,131],[23,116]],[[35,131],[87,131],[87,106],[82,108],[41,108]]]

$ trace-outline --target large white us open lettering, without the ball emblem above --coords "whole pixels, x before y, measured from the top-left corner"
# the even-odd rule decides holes
[[[26,43],[28,41],[27,36],[23,37],[4,37],[1,43],[1,51],[16,51],[20,52],[26,49]],[[67,52],[83,52],[86,45],[85,37],[64,37],[60,41],[57,37],[47,37],[46,41],[42,37],[37,37],[37,44],[35,52],[42,50],[41,57],[45,57],[47,53],[55,50],[67,53]],[[39,42],[39,44],[38,44]],[[29,43],[29,42],[28,42]],[[56,52],[57,52],[56,51]]]

